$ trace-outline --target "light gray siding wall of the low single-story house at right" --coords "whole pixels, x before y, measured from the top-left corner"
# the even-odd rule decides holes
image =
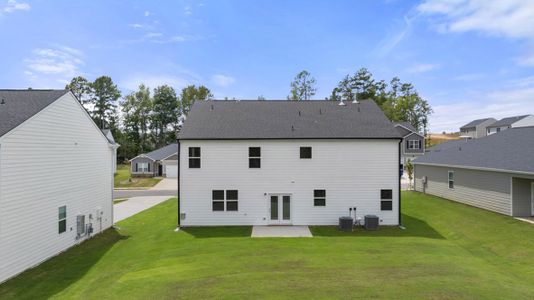
[[[448,188],[448,171],[454,171],[454,189]],[[427,176],[425,187],[423,176]],[[416,191],[505,215],[512,214],[511,178],[508,173],[415,165]]]

